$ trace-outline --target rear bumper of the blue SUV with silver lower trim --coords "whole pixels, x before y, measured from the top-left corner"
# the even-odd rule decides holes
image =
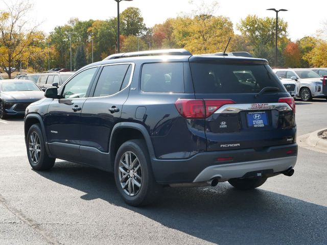
[[[217,158],[232,161],[220,162]],[[202,152],[188,159],[152,158],[154,177],[159,184],[176,184],[208,181],[218,177],[222,181],[249,176],[251,172],[279,173],[294,167],[297,144],[270,146],[260,150],[242,149]],[[252,175],[250,175],[252,177]]]

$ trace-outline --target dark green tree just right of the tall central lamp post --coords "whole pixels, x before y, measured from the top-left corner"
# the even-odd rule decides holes
[[[134,7],[125,9],[121,15],[121,29],[124,36],[139,36],[146,31],[141,10]]]

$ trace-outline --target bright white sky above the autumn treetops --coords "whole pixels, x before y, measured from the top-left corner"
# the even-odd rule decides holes
[[[197,4],[201,0],[193,0],[193,2]],[[215,15],[229,17],[234,28],[236,23],[248,14],[275,17],[275,12],[266,9],[288,9],[288,12],[279,12],[278,17],[289,23],[288,34],[293,41],[306,35],[315,35],[316,31],[322,28],[322,24],[327,22],[326,0],[220,0],[218,2],[219,8],[215,11]],[[114,0],[31,0],[31,3],[34,4],[31,14],[37,22],[43,21],[40,29],[47,33],[54,27],[65,24],[71,17],[78,17],[80,20],[108,19],[117,14],[117,4]],[[212,1],[205,0],[204,3],[211,7]],[[162,23],[169,17],[176,17],[182,12],[191,13],[195,8],[194,5],[189,4],[189,0],[133,0],[120,3],[121,11],[127,7],[141,9],[147,27]]]

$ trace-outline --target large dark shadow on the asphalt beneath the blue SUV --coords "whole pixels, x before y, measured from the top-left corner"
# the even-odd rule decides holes
[[[164,188],[156,204],[125,204],[113,175],[70,162],[56,162],[42,177],[142,214],[163,226],[219,244],[326,244],[327,208],[275,192],[218,187]],[[269,181],[269,180],[268,180]]]

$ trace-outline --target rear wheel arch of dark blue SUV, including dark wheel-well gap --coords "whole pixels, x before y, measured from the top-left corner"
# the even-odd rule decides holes
[[[144,139],[150,158],[154,156],[152,141],[147,129],[136,122],[120,122],[113,127],[109,141],[110,162],[112,166],[119,147],[131,139]]]

